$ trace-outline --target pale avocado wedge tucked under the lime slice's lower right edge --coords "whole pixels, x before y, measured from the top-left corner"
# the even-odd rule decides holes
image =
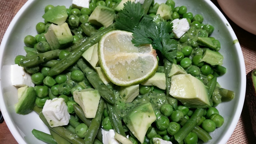
[[[165,90],[165,74],[156,72],[154,76],[150,77],[147,81],[143,82],[142,85],[156,86],[162,90]]]

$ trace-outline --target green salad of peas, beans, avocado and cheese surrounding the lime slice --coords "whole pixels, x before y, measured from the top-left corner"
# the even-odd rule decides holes
[[[173,0],[91,0],[89,8],[47,5],[38,34],[24,38],[26,56],[15,58],[35,84],[23,87],[21,101],[30,106],[16,112],[36,111],[51,134],[32,133],[50,144],[211,141],[209,133],[224,123],[215,107],[222,97],[233,99],[234,92],[217,82],[226,68],[220,42],[211,37],[214,27],[188,10]],[[135,46],[152,45],[158,60],[153,77],[118,86],[104,76],[95,44],[113,30],[132,32]],[[60,124],[63,117],[55,121],[44,113],[51,100],[62,101],[58,104],[65,110],[57,113],[67,111],[66,124]]]

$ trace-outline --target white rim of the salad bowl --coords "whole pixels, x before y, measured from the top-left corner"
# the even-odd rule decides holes
[[[12,31],[12,28],[15,27],[15,23],[17,22],[17,20],[19,20],[20,15],[36,0],[28,0],[21,8],[20,10],[17,12],[17,14],[14,16],[14,18],[12,19],[10,25],[8,26],[4,37],[2,39],[2,43],[0,45],[0,57],[3,56],[4,53],[4,47],[6,47],[6,42],[7,39],[9,37],[8,33],[10,33]],[[212,7],[212,9],[214,10],[214,12],[216,12],[216,14],[218,14],[218,16],[221,18],[221,20],[223,20],[223,22],[227,23],[229,25],[228,27],[228,31],[231,35],[231,37],[233,39],[237,40],[236,34],[233,31],[233,29],[231,28],[228,20],[225,18],[225,16],[223,15],[223,13],[220,12],[220,10],[217,8],[217,6],[215,4],[212,3],[211,0],[203,0],[206,2],[206,4],[208,4],[209,6]],[[242,49],[239,43],[235,44],[236,46],[236,51],[238,54],[238,58],[239,58],[239,64],[241,67],[241,71],[240,71],[240,77],[241,77],[241,86],[246,85],[246,71],[245,71],[245,63],[244,63],[244,56],[242,53]],[[0,63],[0,68],[2,69],[3,64]],[[0,79],[1,81],[1,79]],[[0,83],[0,87],[1,87],[1,83]],[[245,98],[245,87],[241,87],[241,91],[239,94],[239,105],[237,105],[237,109],[235,112],[235,116],[234,119],[232,119],[230,121],[230,125],[232,125],[232,128],[229,128],[227,130],[227,132],[222,136],[222,139],[220,140],[221,143],[226,143],[228,141],[228,139],[230,138],[230,136],[232,135],[232,133],[234,132],[236,125],[238,123],[239,117],[241,115],[242,109],[243,109],[243,104],[244,104],[244,98]],[[4,120],[6,125],[8,126],[10,132],[12,133],[13,137],[15,138],[15,140],[18,143],[27,143],[24,139],[24,137],[21,135],[19,129],[17,128],[17,126],[15,124],[12,123],[12,117],[8,114],[7,112],[7,107],[4,103],[4,99],[3,99],[3,95],[2,95],[2,89],[0,89],[0,108],[1,108],[1,112],[4,116]],[[233,126],[235,125],[235,126]]]

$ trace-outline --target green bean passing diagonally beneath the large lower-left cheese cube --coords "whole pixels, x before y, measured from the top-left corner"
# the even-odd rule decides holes
[[[79,138],[76,134],[73,134],[72,132],[69,132],[67,129],[65,129],[63,126],[57,126],[57,127],[51,127],[47,120],[45,119],[43,113],[39,114],[39,117],[44,122],[44,124],[52,131],[59,134],[61,137],[65,138],[69,142],[73,144],[85,144],[84,140],[82,138]]]

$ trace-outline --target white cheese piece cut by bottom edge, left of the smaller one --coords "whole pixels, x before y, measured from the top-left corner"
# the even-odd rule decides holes
[[[115,139],[115,131],[109,130],[105,131],[102,129],[102,142],[103,144],[120,144],[118,140]]]

